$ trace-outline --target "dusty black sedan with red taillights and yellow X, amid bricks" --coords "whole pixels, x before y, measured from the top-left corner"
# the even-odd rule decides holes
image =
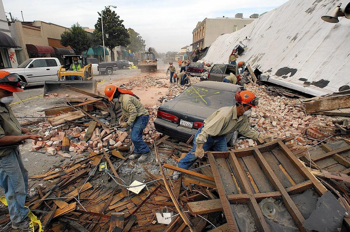
[[[236,104],[237,90],[244,87],[225,82],[197,82],[158,108],[155,129],[186,142],[217,109]]]

